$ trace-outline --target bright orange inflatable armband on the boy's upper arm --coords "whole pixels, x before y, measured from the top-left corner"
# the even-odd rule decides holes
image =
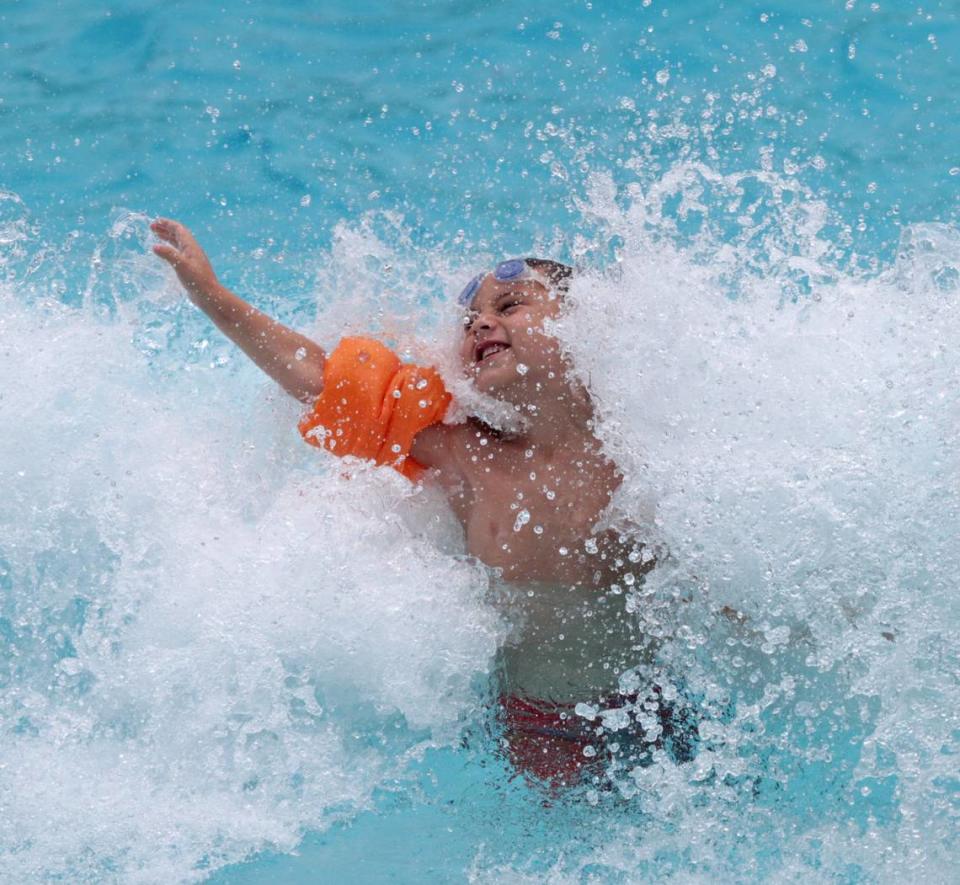
[[[344,338],[327,357],[323,393],[298,427],[311,445],[388,464],[415,480],[424,467],[410,457],[413,441],[449,405],[435,369],[405,365],[379,341]]]

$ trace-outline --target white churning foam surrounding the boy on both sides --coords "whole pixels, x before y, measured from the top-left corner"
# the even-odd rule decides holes
[[[944,879],[960,233],[908,228],[873,266],[789,178],[641,172],[592,179],[574,252],[614,261],[556,331],[621,515],[669,551],[624,617],[695,699],[698,752],[577,799],[586,848],[550,831],[536,872],[477,849],[470,876]],[[142,216],[40,246],[4,199],[4,877],[199,879],[386,784],[415,796],[411,762],[486,716],[505,635],[444,505],[302,446],[295,405],[145,254]],[[38,281],[78,248],[89,283],[64,306]],[[451,371],[452,311],[422,293],[456,269],[401,218],[342,225],[324,267],[320,340],[367,316]]]

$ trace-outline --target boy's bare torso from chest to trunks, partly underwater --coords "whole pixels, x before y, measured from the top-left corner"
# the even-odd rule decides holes
[[[598,529],[621,482],[615,465],[472,425],[445,436],[448,499],[468,552],[499,573],[495,596],[515,627],[501,654],[504,689],[563,702],[615,693],[642,657],[622,579],[650,567],[636,561],[640,539]]]

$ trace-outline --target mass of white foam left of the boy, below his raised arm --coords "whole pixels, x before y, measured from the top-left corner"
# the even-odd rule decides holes
[[[500,626],[435,497],[330,470],[245,373],[3,298],[3,878],[291,850],[457,738]]]

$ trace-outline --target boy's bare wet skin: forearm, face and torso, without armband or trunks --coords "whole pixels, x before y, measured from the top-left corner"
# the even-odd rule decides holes
[[[161,218],[151,227],[161,240],[154,252],[194,304],[291,396],[319,396],[323,349],[221,285],[182,224]],[[503,652],[505,690],[574,703],[611,694],[619,671],[636,663],[633,619],[610,588],[651,563],[631,562],[632,539],[596,529],[622,477],[593,434],[588,391],[549,333],[560,309],[548,285],[488,275],[460,358],[480,391],[516,408],[522,430],[438,424],[411,454],[441,483],[468,551],[495,570],[495,596],[517,624]]]

